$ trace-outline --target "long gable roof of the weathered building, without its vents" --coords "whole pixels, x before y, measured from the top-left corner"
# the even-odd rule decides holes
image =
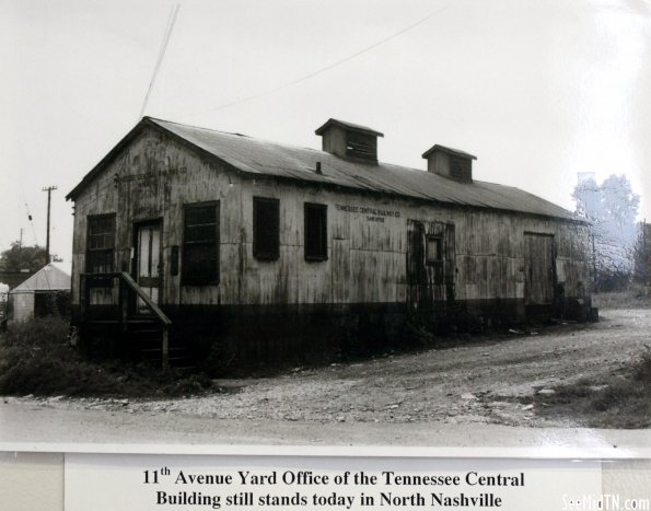
[[[511,186],[480,181],[458,183],[421,170],[387,163],[361,163],[315,149],[144,117],[72,190],[74,199],[132,139],[153,127],[189,144],[201,154],[228,163],[247,175],[289,178],[360,191],[400,196],[475,208],[519,211],[574,220],[573,213],[548,200]],[[321,173],[316,173],[316,163]]]

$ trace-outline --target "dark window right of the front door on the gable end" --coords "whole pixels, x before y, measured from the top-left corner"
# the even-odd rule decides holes
[[[219,283],[219,202],[185,207],[181,281]]]

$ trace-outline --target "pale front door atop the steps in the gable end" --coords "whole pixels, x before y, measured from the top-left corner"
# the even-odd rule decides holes
[[[136,281],[154,303],[159,303],[161,288],[161,224],[146,223],[137,227]],[[137,310],[149,310],[139,298]]]

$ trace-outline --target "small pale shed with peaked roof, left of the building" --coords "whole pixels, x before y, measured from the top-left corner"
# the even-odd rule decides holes
[[[53,263],[9,291],[8,320],[23,322],[70,310],[70,276]]]

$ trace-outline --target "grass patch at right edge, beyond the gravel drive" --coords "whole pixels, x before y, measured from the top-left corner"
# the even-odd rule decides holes
[[[608,381],[580,380],[534,396],[544,416],[580,417],[592,428],[641,429],[651,426],[651,349]]]

